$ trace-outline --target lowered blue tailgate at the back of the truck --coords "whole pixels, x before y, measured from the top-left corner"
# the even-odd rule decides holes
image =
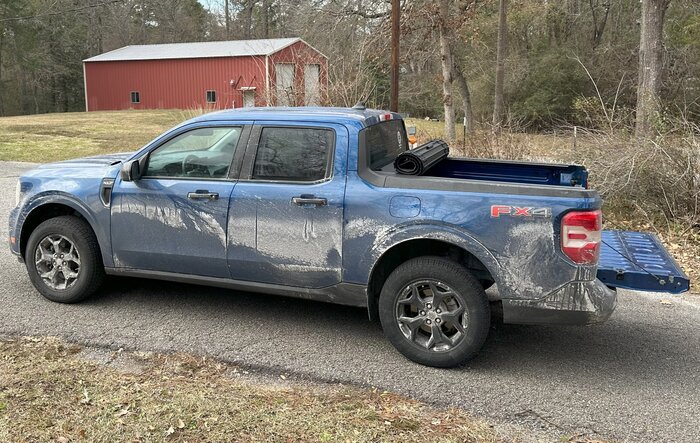
[[[607,286],[653,292],[685,292],[690,281],[654,234],[603,231],[598,279]]]

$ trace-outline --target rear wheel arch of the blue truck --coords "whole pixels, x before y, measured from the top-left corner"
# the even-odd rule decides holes
[[[491,252],[476,239],[456,229],[440,226],[426,231],[424,227],[409,229],[384,239],[386,248],[377,248],[367,283],[367,309],[371,319],[377,318],[379,294],[384,281],[401,263],[421,256],[438,256],[453,260],[475,274],[479,280],[499,284],[499,264]]]

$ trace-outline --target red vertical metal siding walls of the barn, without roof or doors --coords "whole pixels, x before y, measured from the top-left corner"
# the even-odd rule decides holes
[[[327,101],[328,62],[325,57],[303,42],[271,55],[272,88],[275,85],[275,62],[296,64],[297,105],[304,103],[304,64],[320,64],[321,101]],[[246,87],[256,88],[256,105],[267,104],[265,56],[86,62],[84,66],[88,111],[239,108],[243,106],[241,88]],[[207,103],[208,90],[216,91],[216,103]],[[131,103],[132,91],[139,92],[140,103]]]

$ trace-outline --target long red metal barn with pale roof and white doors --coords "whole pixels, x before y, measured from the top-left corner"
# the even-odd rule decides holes
[[[328,58],[300,38],[125,46],[83,60],[85,108],[313,106]]]

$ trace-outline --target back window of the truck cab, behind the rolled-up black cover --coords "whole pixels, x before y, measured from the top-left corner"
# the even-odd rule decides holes
[[[408,150],[406,128],[403,120],[389,120],[364,129],[365,149],[369,155],[369,167],[372,170],[384,166]]]

